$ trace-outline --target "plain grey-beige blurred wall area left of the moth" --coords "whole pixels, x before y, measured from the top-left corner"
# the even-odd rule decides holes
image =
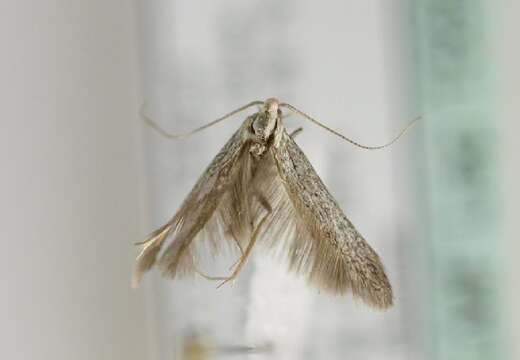
[[[0,4],[1,359],[144,359],[133,3]]]

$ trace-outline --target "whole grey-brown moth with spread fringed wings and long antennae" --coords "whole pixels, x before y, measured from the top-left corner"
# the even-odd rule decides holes
[[[392,287],[377,253],[345,216],[282,121],[287,108],[366,149],[368,147],[327,128],[290,104],[274,98],[253,101],[204,125],[202,130],[250,106],[248,116],[202,174],[177,213],[142,243],[134,280],[139,282],[154,264],[162,275],[178,278],[198,274],[223,284],[235,281],[257,244],[277,251],[289,269],[310,285],[333,295],[351,293],[365,304],[386,309]],[[145,117],[168,137],[157,124]],[[417,119],[416,119],[417,120]],[[415,120],[414,120],[415,121]],[[167,242],[167,239],[171,241]],[[229,276],[209,276],[200,270],[201,247],[220,254],[235,249],[238,260]],[[281,249],[281,250],[280,250]]]

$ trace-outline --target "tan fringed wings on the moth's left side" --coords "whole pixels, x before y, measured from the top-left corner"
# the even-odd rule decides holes
[[[247,136],[249,118],[224,145],[197,181],[177,213],[161,228],[154,231],[142,243],[136,259],[134,284],[156,262],[164,276],[175,277],[191,274],[198,259],[198,241],[205,240],[216,252],[222,242],[241,244],[250,231],[251,220],[244,204],[247,196],[242,196],[250,176]],[[238,200],[237,200],[238,199]],[[175,234],[171,243],[165,240]],[[163,249],[164,248],[164,249]],[[162,252],[159,259],[159,253]]]

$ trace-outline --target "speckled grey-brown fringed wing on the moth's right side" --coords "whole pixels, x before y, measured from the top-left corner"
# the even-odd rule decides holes
[[[270,149],[297,221],[290,263],[325,292],[351,292],[375,308],[392,305],[379,256],[347,219],[307,157],[285,129]]]

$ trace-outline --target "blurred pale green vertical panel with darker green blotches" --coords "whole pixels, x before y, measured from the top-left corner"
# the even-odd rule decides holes
[[[425,117],[425,358],[506,359],[490,3],[407,4],[413,97]]]

